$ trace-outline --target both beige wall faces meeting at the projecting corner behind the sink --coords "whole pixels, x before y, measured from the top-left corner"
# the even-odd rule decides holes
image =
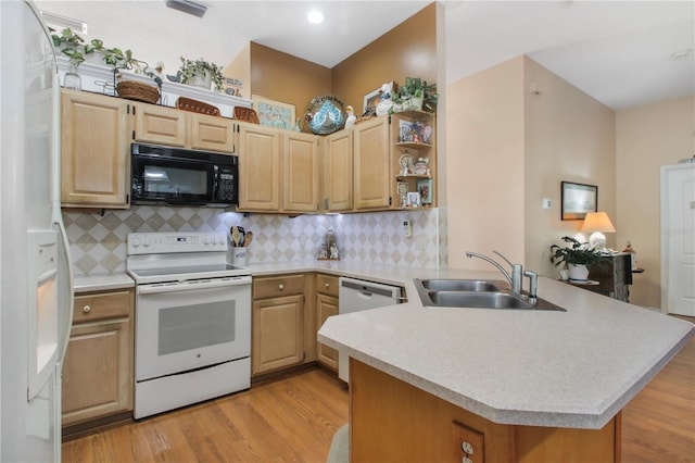
[[[465,251],[498,250],[556,276],[549,246],[581,226],[560,220],[560,182],[597,185],[599,210],[616,216],[615,113],[526,57],[446,92],[450,265],[483,268]]]

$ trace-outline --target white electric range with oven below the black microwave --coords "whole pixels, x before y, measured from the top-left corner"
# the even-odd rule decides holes
[[[136,418],[251,386],[251,273],[225,233],[134,233]]]

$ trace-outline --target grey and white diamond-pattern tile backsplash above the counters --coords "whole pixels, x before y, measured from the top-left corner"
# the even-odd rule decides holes
[[[242,214],[210,208],[134,205],[103,215],[63,210],[75,275],[126,270],[126,237],[132,232],[253,232],[248,263],[314,261],[333,228],[341,260],[410,267],[446,267],[446,210],[442,208],[356,214]],[[403,222],[413,223],[405,237]]]

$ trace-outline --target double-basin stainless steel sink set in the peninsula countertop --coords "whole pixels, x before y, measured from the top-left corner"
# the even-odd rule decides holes
[[[422,305],[428,308],[555,310],[565,309],[538,298],[527,298],[505,288],[504,281],[480,279],[414,279]]]

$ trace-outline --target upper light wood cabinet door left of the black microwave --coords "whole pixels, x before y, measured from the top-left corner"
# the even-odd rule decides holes
[[[62,91],[61,201],[64,208],[127,208],[128,102]]]

